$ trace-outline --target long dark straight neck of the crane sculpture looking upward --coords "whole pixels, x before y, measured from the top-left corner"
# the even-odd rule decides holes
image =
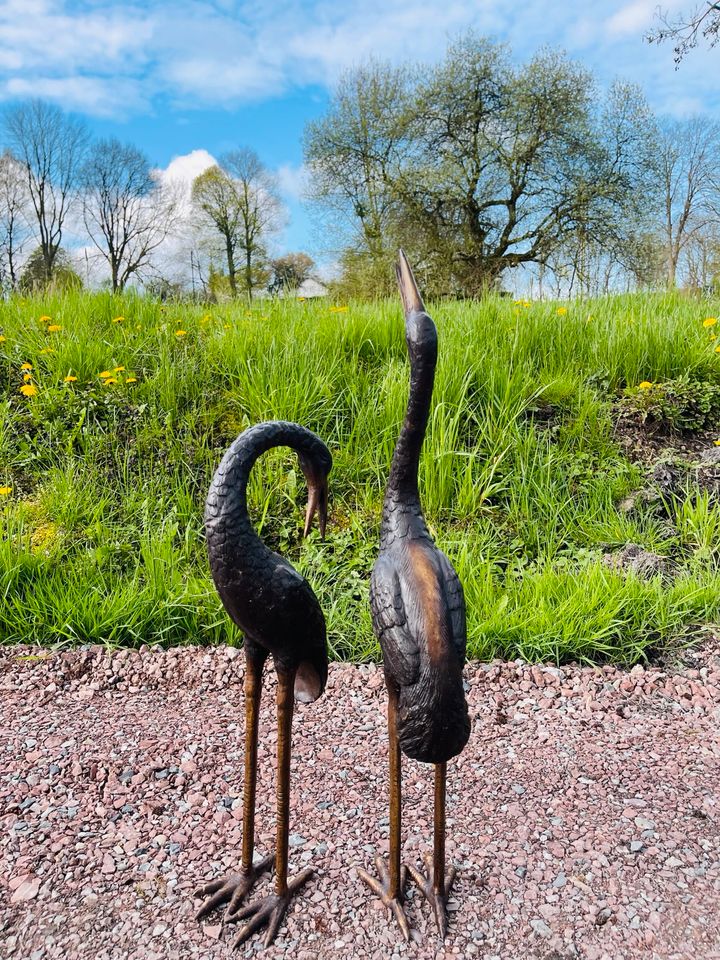
[[[410,352],[410,395],[390,466],[385,491],[386,508],[407,506],[420,511],[418,469],[430,416],[436,362],[434,343],[417,353]]]

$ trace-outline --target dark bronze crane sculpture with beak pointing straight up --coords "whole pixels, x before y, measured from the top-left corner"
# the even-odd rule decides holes
[[[380,641],[388,691],[390,754],[390,856],[376,860],[379,879],[363,880],[396,916],[410,937],[403,910],[405,868],[400,864],[400,751],[435,764],[435,822],[428,874],[410,873],[432,904],[441,937],[447,932],[447,899],[455,877],[445,873],[446,765],[470,736],[462,668],[465,659],[465,600],[460,580],[433,543],[420,505],[418,467],[430,414],[437,361],[437,331],[425,311],[405,254],[400,251],[398,284],[405,308],[410,355],[410,395],[393,453],[385,491],[380,554],[372,572],[370,607]]]

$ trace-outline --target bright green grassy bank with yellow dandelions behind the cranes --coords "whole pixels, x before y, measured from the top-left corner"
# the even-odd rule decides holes
[[[643,478],[614,439],[612,402],[644,380],[720,384],[703,327],[718,309],[659,295],[565,313],[499,298],[432,307],[440,362],[421,492],[465,585],[471,657],[632,663],[717,619],[719,509],[691,492],[672,522],[651,505],[619,510]],[[0,487],[12,488],[0,496],[0,640],[237,639],[208,575],[204,497],[234,437],[282,418],[332,449],[328,536],[299,539],[304,487],[288,451],[258,463],[254,516],[313,584],[332,654],[377,658],[367,581],[407,397],[398,303],[206,309],[79,294],[3,303],[0,334]],[[23,362],[33,397],[19,392]],[[628,541],[673,556],[681,575],[668,586],[610,571],[602,554]]]

